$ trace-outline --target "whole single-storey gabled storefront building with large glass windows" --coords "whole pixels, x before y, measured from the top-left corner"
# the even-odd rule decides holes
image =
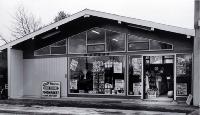
[[[179,101],[193,95],[193,42],[194,30],[84,10],[0,49],[9,98]]]

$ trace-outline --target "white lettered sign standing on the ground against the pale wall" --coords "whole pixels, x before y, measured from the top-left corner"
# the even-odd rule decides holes
[[[60,98],[60,82],[55,82],[55,81],[42,82],[42,97]]]

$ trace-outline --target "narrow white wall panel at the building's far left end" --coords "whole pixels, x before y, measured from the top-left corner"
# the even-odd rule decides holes
[[[23,96],[23,52],[14,49],[9,51],[9,98],[21,98]]]

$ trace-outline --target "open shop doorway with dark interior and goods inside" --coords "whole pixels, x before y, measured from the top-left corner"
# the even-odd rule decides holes
[[[172,101],[174,55],[143,56],[144,99]]]

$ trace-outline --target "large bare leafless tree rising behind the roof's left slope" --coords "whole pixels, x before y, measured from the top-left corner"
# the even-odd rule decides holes
[[[38,30],[40,27],[40,19],[36,18],[32,13],[25,10],[22,5],[17,8],[14,15],[14,28],[11,29],[12,36],[15,38],[21,38]]]

